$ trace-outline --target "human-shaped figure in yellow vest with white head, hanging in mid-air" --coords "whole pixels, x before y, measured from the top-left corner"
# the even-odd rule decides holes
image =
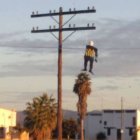
[[[94,47],[94,42],[89,41],[88,45],[86,45],[85,55],[84,55],[84,69],[83,71],[87,71],[87,65],[89,64],[89,72],[93,73],[93,63],[97,62],[98,57],[98,49]]]

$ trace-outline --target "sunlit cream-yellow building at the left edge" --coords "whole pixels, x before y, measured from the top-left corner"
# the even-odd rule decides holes
[[[0,108],[0,138],[4,138],[14,126],[16,126],[16,112]]]

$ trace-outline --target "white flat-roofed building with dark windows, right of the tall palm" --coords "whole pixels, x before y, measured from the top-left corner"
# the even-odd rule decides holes
[[[103,110],[88,113],[85,119],[85,139],[96,140],[98,133],[105,133],[107,140],[132,140],[140,127],[139,110]],[[122,134],[122,135],[121,135]],[[137,132],[140,140],[140,132]]]

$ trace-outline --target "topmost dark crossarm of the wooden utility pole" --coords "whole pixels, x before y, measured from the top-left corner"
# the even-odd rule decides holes
[[[94,9],[94,8],[92,8],[92,9],[88,9],[88,10],[73,10],[73,11],[66,11],[66,12],[61,12],[61,15],[70,15],[70,14],[84,14],[84,13],[95,13],[96,12],[96,10]],[[50,11],[50,13],[44,13],[44,14],[39,14],[39,13],[37,13],[37,14],[34,14],[34,13],[32,13],[32,15],[31,15],[31,18],[37,18],[37,17],[49,17],[49,16],[59,16],[60,15],[60,12],[54,12],[54,13],[51,13],[51,11]]]

